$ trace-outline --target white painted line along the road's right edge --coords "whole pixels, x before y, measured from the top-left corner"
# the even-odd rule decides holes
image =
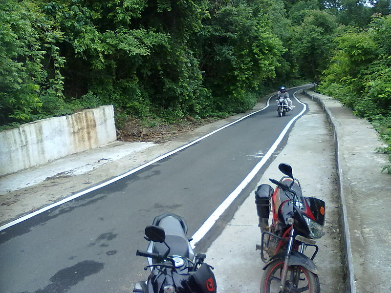
[[[293,96],[295,97],[296,101],[298,101],[300,104],[304,105],[303,110],[298,115],[296,115],[291,121],[289,121],[289,123],[282,130],[282,132],[279,135],[279,137],[277,138],[277,140],[274,142],[274,144],[269,148],[269,150],[263,156],[261,161],[257,165],[255,165],[255,167],[244,178],[244,180],[239,184],[239,186],[237,188],[235,188],[234,191],[232,191],[230,195],[228,195],[228,197],[217,207],[217,209],[209,216],[208,219],[206,219],[206,221],[201,225],[201,227],[194,233],[194,235],[192,236],[193,240],[191,241],[192,248],[195,248],[195,245],[205,236],[205,234],[213,227],[213,225],[215,225],[216,221],[221,216],[221,214],[232,204],[232,202],[238,197],[239,193],[247,186],[247,184],[250,183],[250,181],[255,177],[255,175],[257,175],[257,173],[259,172],[261,167],[266,163],[266,161],[270,158],[270,156],[276,150],[277,146],[281,143],[282,139],[284,138],[286,132],[289,130],[289,128],[293,124],[293,122],[304,114],[305,110],[307,109],[307,105],[300,102],[296,98],[296,93],[299,92],[300,90],[294,92]],[[269,98],[269,100],[270,100],[270,98]],[[267,101],[268,103],[269,103],[269,100]]]

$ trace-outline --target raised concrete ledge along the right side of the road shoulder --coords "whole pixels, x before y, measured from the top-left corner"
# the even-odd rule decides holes
[[[370,224],[389,206],[381,196],[372,195],[378,194],[376,190],[380,191],[379,195],[391,194],[388,193],[391,178],[380,172],[382,164],[387,163],[386,155],[374,152],[382,143],[368,121],[353,116],[340,102],[311,90],[304,90],[304,94],[323,107],[334,133],[347,292],[386,292],[390,290],[387,284],[390,281],[389,257],[381,246],[389,232],[381,221],[377,221],[376,226]],[[384,235],[381,235],[382,230],[385,230]],[[378,272],[382,271],[385,276],[380,276],[379,280]]]

